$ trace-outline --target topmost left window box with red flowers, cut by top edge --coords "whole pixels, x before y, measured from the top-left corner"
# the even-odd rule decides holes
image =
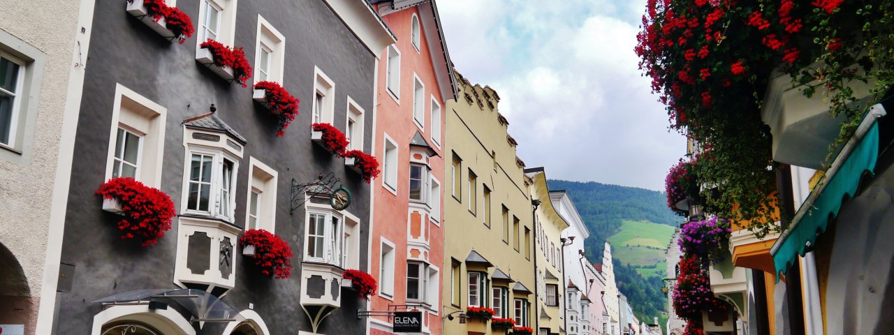
[[[127,13],[170,41],[178,39],[183,44],[195,32],[190,16],[177,7],[167,6],[164,0],[128,0],[127,3]]]

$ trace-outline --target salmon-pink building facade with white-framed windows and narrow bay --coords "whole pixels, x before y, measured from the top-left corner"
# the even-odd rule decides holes
[[[370,3],[398,42],[378,66],[370,262],[370,334],[392,334],[392,312],[421,311],[422,332],[442,333],[444,101],[455,99],[434,1]],[[395,4],[398,3],[398,4]],[[388,312],[388,313],[381,313]]]

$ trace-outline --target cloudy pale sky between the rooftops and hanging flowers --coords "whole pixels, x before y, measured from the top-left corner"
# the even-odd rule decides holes
[[[528,167],[662,190],[686,152],[637,66],[645,0],[439,0],[453,63],[490,85]]]

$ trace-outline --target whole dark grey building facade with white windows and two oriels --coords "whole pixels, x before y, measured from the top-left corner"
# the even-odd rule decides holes
[[[93,13],[61,253],[70,280],[59,283],[54,332],[132,323],[139,334],[365,333],[357,311],[366,302],[338,281],[346,268],[370,271],[370,185],[312,141],[311,124],[332,123],[350,148],[372,154],[377,50],[393,42],[388,29],[363,1],[168,0],[196,29],[178,44],[133,10],[139,1],[101,0]],[[248,88],[203,64],[205,38],[244,48]],[[283,137],[253,100],[263,79],[301,100]],[[330,173],[339,180],[330,187],[350,191],[343,211],[295,187]],[[122,239],[121,216],[95,194],[120,176],[173,200],[177,215],[157,244]],[[311,220],[325,229],[311,231]],[[243,255],[238,239],[249,228],[288,243],[290,278],[262,274]],[[133,290],[144,291],[120,296]]]

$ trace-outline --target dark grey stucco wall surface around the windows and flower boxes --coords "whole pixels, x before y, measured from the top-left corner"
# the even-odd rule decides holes
[[[176,4],[198,25],[198,0],[179,0]],[[317,147],[309,138],[314,68],[324,71],[335,83],[333,124],[336,128],[345,129],[347,96],[366,111],[364,149],[369,153],[375,55],[322,0],[240,1],[235,46],[245,48],[247,59],[254,66],[257,17],[263,16],[286,38],[283,86],[302,100],[299,116],[285,131],[285,136],[275,138],[276,121],[264,107],[251,100],[250,88],[225,82],[196,63],[195,36],[182,45],[172,44],[125,13],[124,6],[123,1],[101,1],[95,11],[93,43],[86,60],[88,71],[74,145],[77,162],[72,168],[63,241],[63,262],[75,265],[75,278],[72,293],[63,293],[61,297],[58,330],[89,333],[93,315],[100,311],[100,306],[89,302],[97,298],[131,289],[175,287],[177,219],[173,229],[157,245],[139,247],[139,243],[119,239],[120,233],[114,227],[115,215],[103,212],[101,199],[94,194],[105,179],[114,89],[120,83],[167,109],[160,188],[172,197],[178,212],[185,155],[181,121],[207,113],[210,104],[217,106],[218,117],[249,142],[237,172],[234,215],[237,224],[242,225],[246,217],[249,157],[278,172],[276,233],[290,244],[295,255],[291,259],[291,278],[273,280],[253,271],[246,266],[247,257],[237,249],[236,288],[223,300],[239,310],[253,303],[271,333],[309,331],[308,318],[299,306],[305,214],[303,208],[290,214],[291,180],[306,183],[316,180],[318,173],[328,172],[341,178],[353,196],[348,211],[361,221],[358,250],[367,250],[370,189],[357,173],[344,166],[342,159]],[[368,271],[367,253],[359,254],[359,264],[361,270]],[[365,302],[350,293],[344,293],[343,297],[342,308],[323,322],[321,333],[356,333],[365,327],[366,322],[358,320],[356,314]],[[212,331],[214,327],[206,327],[198,333]]]

